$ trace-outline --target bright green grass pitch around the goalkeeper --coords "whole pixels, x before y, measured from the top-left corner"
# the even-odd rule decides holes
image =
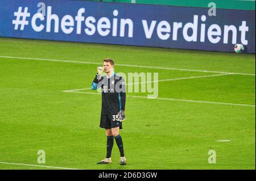
[[[119,165],[115,143],[112,164],[96,165],[106,154],[101,96],[63,91],[90,87],[97,64],[53,60],[101,65],[106,57],[152,67],[117,65],[115,72],[155,72],[159,80],[242,74],[159,82],[159,98],[170,99],[127,93],[127,165]],[[255,54],[0,38],[0,70],[0,169],[255,169]],[[38,150],[46,163],[37,162]],[[216,151],[215,164],[208,163],[209,150]]]

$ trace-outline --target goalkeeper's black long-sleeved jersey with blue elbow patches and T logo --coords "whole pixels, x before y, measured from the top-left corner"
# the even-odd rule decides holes
[[[115,73],[109,78],[106,75],[100,77],[96,74],[92,82],[92,90],[97,90],[100,87],[102,115],[116,115],[120,110],[125,111],[126,87],[122,77]]]

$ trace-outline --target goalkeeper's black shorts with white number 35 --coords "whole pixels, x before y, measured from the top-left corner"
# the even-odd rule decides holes
[[[115,115],[101,115],[100,127],[105,129],[119,127],[119,129],[122,129],[122,123],[115,120]]]

